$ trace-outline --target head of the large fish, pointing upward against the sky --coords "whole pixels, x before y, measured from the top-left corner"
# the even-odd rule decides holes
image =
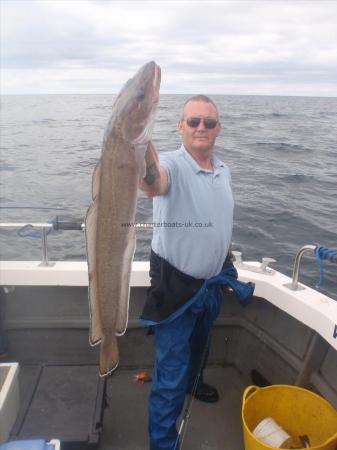
[[[160,67],[151,61],[125,84],[116,99],[123,139],[133,145],[144,145],[151,139],[160,77]]]

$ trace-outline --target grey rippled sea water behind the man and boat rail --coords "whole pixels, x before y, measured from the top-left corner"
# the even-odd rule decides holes
[[[162,95],[153,142],[180,146],[176,122],[187,96]],[[337,99],[213,96],[222,122],[216,153],[229,166],[235,197],[234,249],[245,260],[273,257],[291,275],[305,244],[337,248]],[[84,218],[113,96],[4,96],[1,100],[1,222]],[[136,221],[152,221],[139,195]],[[151,230],[137,230],[135,260],[149,256]],[[85,259],[82,232],[48,236],[49,259]],[[0,229],[1,259],[38,260],[39,239]],[[337,299],[337,266],[324,264],[322,292]],[[300,281],[314,286],[317,264],[304,256]]]

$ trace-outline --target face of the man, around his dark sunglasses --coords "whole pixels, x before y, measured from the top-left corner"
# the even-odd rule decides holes
[[[188,125],[187,119],[190,118],[212,118],[218,120],[216,109],[212,103],[203,101],[191,101],[185,105],[183,119],[178,122],[178,130],[183,138],[185,148],[193,152],[207,152],[214,146],[215,139],[218,136],[221,126],[217,122],[215,128],[206,128],[203,120],[193,128]]]

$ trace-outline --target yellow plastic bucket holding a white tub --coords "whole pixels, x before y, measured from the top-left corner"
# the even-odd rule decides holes
[[[337,411],[307,389],[282,384],[248,386],[242,400],[245,450],[274,448],[253,435],[256,425],[266,417],[272,417],[291,436],[307,435],[311,449],[337,450]]]

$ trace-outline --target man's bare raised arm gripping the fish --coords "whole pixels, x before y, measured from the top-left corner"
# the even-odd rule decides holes
[[[168,189],[167,172],[159,163],[157,150],[152,142],[149,142],[145,153],[146,172],[141,179],[139,188],[148,196],[165,194]]]

